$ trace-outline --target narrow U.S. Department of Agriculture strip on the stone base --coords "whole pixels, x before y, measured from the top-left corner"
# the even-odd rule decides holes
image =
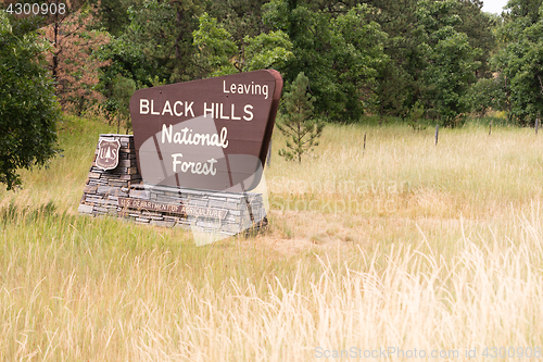
[[[228,213],[227,210],[223,209],[200,208],[191,205],[187,207],[184,204],[165,203],[165,202],[143,200],[143,199],[118,198],[117,200],[118,200],[117,201],[118,205],[123,209],[160,211],[172,214],[214,217],[214,219],[224,219]]]

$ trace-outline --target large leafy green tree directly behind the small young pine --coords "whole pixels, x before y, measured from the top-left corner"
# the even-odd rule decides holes
[[[369,21],[371,9],[362,4],[336,14],[273,0],[265,10],[265,25],[283,30],[293,45],[294,57],[279,68],[283,78],[293,82],[304,72],[318,98],[318,114],[340,122],[358,120],[367,105],[367,87],[388,59],[387,35]]]

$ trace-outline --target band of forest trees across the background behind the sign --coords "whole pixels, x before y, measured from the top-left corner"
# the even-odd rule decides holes
[[[543,108],[540,0],[510,0],[501,15],[480,0],[67,4],[38,30],[58,99],[128,126],[136,89],[272,67],[287,91],[304,72],[332,123],[377,114],[456,127],[494,110],[529,126]]]

